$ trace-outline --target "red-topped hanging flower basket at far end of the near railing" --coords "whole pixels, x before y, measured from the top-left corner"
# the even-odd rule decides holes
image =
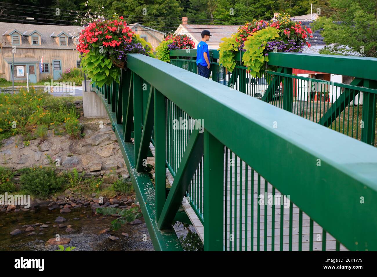
[[[123,17],[97,18],[80,32],[77,50],[87,76],[98,86],[119,82],[120,69],[126,68],[127,54],[155,58],[152,45],[136,35]]]

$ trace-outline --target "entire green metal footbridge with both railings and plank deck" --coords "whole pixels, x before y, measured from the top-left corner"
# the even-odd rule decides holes
[[[254,78],[213,50],[207,79],[195,57],[128,54],[119,83],[93,84],[155,250],[182,251],[186,222],[205,251],[376,251],[377,59],[271,52]]]

